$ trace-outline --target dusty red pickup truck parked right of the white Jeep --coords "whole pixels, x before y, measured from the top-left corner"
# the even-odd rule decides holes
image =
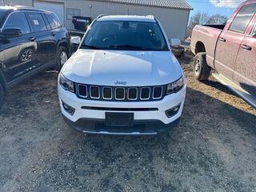
[[[226,26],[195,26],[194,76],[214,78],[256,108],[256,0],[242,2]]]

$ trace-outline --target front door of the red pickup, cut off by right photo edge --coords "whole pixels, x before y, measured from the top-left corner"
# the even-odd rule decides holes
[[[234,70],[234,82],[256,97],[256,17],[242,39]]]

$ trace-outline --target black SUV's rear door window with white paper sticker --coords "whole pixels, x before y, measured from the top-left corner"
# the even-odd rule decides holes
[[[27,14],[30,19],[30,24],[34,32],[47,30],[46,23],[44,22],[42,15],[38,13]]]

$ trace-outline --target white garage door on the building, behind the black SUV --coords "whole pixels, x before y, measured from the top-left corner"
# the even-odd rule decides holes
[[[57,14],[59,20],[64,23],[64,5],[62,3],[54,3],[54,2],[34,2],[34,7],[43,10],[49,10]]]

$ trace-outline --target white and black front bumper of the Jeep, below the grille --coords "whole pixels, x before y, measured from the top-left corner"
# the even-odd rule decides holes
[[[176,94],[170,94],[155,102],[106,102],[78,98],[75,94],[58,86],[59,102],[66,122],[84,134],[159,134],[177,125],[182,115],[186,97],[186,86]],[[73,115],[64,110],[62,103],[74,108]],[[166,111],[179,106],[171,117]],[[109,110],[108,110],[109,109]],[[116,110],[115,110],[116,109]],[[126,109],[123,111],[122,109]],[[134,113],[133,127],[106,126],[106,112]],[[135,110],[136,109],[136,110]],[[157,110],[145,110],[157,109]]]

